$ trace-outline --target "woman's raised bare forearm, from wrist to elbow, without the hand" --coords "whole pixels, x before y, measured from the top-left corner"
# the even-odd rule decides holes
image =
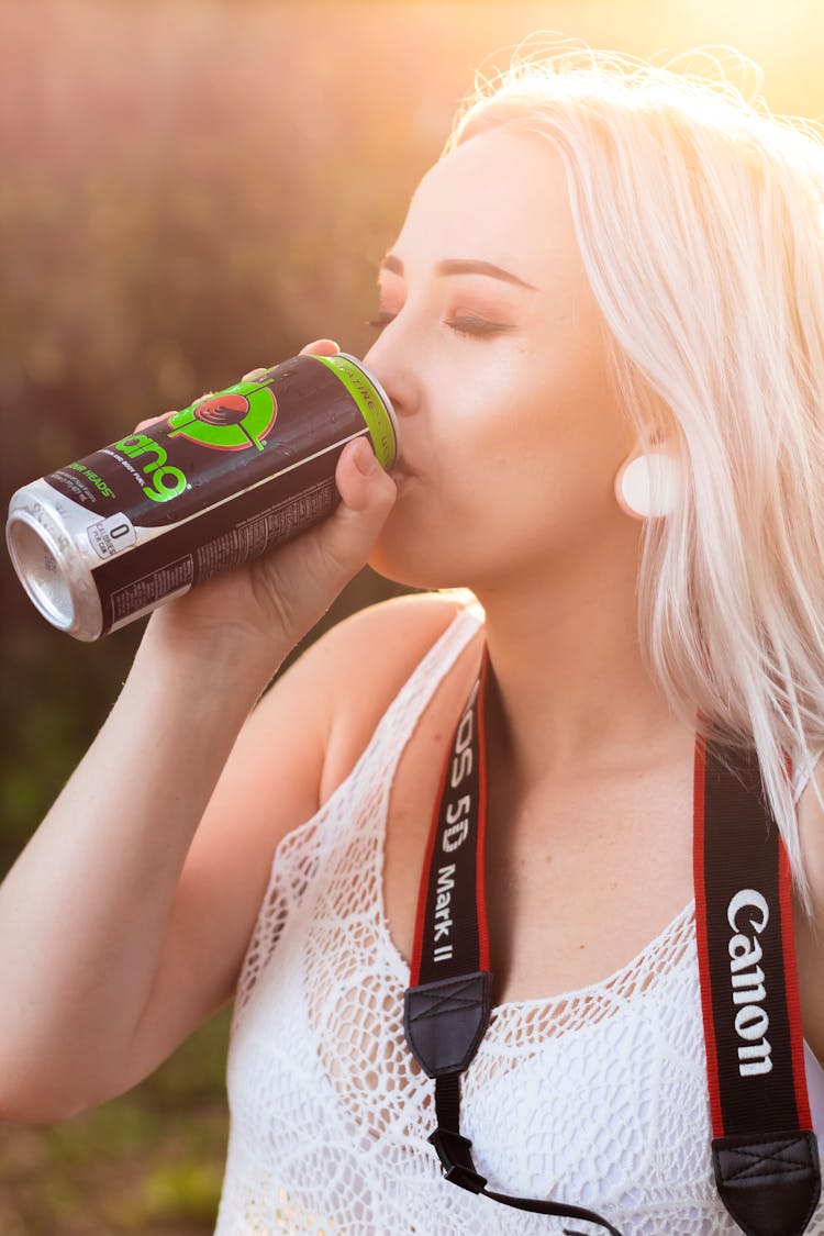
[[[173,932],[175,887],[264,685],[251,666],[194,650],[175,656],[153,634],[0,887],[4,1119],[64,1117],[145,1072],[136,1030]],[[205,979],[178,999],[205,1000]]]

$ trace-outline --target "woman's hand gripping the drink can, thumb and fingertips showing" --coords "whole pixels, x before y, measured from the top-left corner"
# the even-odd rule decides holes
[[[338,351],[331,340],[317,340],[301,355]],[[246,379],[262,372],[253,370]],[[229,643],[235,653],[243,648],[268,660],[285,656],[366,565],[397,497],[394,481],[364,439],[343,447],[335,483],[341,502],[334,514],[263,557],[161,606],[149,623],[153,638],[185,640],[189,648],[194,639],[203,640],[210,655],[215,645]]]

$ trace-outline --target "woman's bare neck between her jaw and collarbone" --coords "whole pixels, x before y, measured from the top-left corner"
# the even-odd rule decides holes
[[[644,666],[635,564],[582,570],[565,587],[477,592],[494,688],[490,751],[521,786],[603,776],[692,750]]]

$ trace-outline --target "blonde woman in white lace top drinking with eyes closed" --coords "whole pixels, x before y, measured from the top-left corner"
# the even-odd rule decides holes
[[[1,1116],[121,1093],[236,993],[224,1236],[594,1231],[442,1179],[404,1039],[486,646],[476,1167],[631,1236],[739,1230],[709,1156],[693,775],[697,735],[755,745],[820,1131],[823,185],[801,126],[570,46],[462,111],[380,271],[366,363],[400,467],[347,447],[334,518],[152,617],[2,886]],[[247,717],[367,560],[424,595],[332,629]]]

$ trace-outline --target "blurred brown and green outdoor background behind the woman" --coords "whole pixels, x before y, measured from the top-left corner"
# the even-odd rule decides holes
[[[763,69],[762,84],[736,77],[745,89],[824,119],[820,0],[0,0],[4,506],[310,339],[362,355],[377,263],[473,70],[536,30],[657,59],[731,44]],[[327,620],[394,591],[366,571]],[[142,623],[72,640],[5,550],[0,597],[2,874],[105,717]],[[227,1018],[115,1103],[0,1125],[2,1236],[209,1232]]]

